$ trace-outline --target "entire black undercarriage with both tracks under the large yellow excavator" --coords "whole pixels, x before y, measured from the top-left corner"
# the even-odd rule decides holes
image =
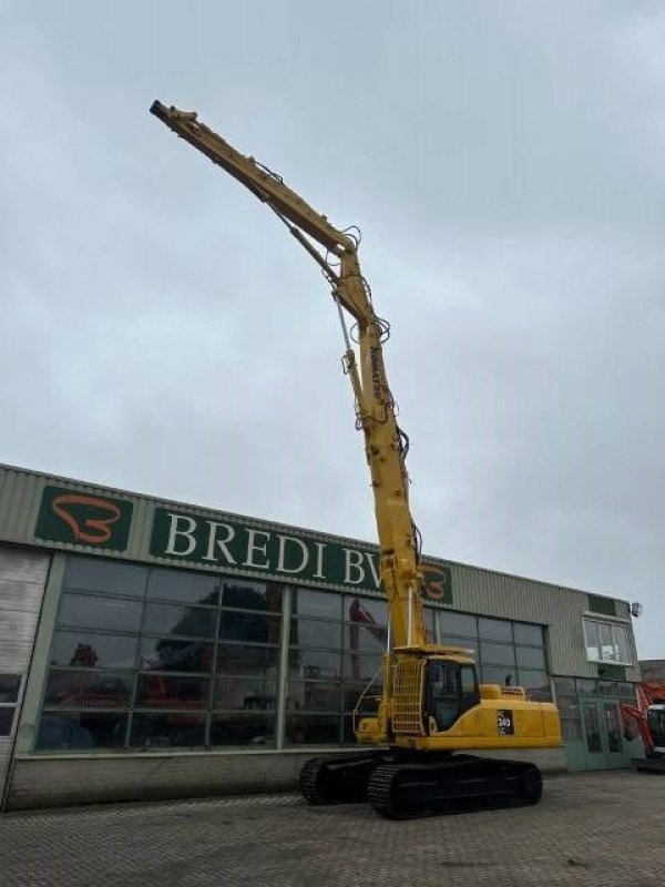
[[[369,802],[389,819],[538,804],[533,764],[473,755],[362,752],[315,757],[300,771],[310,804]]]

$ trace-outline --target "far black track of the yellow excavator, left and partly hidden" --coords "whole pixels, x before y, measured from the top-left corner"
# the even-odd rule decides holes
[[[376,752],[313,757],[300,771],[300,792],[310,804],[360,804],[376,765]]]

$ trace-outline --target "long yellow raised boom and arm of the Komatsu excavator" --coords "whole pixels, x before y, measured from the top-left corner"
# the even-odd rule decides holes
[[[424,645],[423,579],[417,530],[409,509],[406,436],[397,424],[383,364],[382,346],[389,326],[375,314],[369,286],[358,263],[358,239],[335,228],[280,176],[254,157],[236,151],[201,123],[195,112],[167,108],[158,101],[153,103],[151,112],[267,204],[323,268],[330,283],[345,333],[345,371],[354,389],[357,424],[365,435],[381,550],[380,575],[390,610],[393,643],[396,646]],[[334,258],[328,261],[328,255],[321,254],[313,241]],[[357,324],[359,365],[342,308]]]

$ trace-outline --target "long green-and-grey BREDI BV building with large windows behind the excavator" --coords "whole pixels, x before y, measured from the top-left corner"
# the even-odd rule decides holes
[[[543,771],[627,766],[626,601],[426,559],[438,642],[555,699]],[[3,809],[291,788],[352,742],[387,613],[377,549],[0,467]]]

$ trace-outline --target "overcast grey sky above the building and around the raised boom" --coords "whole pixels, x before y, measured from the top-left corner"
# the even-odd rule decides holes
[[[665,656],[661,2],[6,0],[0,461],[375,538],[326,284],[149,114],[364,232],[427,553]]]

